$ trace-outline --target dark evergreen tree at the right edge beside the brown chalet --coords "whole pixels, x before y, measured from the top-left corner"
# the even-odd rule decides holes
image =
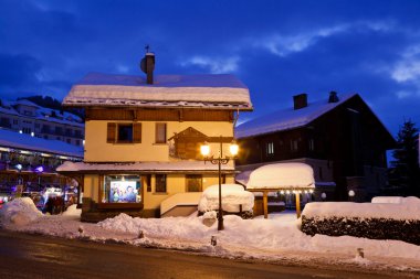
[[[403,189],[406,195],[420,196],[419,129],[411,120],[403,122],[393,150],[393,183]]]

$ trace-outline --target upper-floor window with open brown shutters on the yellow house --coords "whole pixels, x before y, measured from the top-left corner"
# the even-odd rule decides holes
[[[140,143],[141,124],[108,122],[106,142],[108,143]]]

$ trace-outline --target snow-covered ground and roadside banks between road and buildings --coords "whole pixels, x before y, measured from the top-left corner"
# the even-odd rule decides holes
[[[6,229],[94,242],[168,248],[208,256],[267,260],[291,265],[347,265],[420,272],[420,246],[398,240],[372,240],[350,236],[311,237],[300,229],[294,212],[271,214],[269,219],[224,216],[224,230],[203,216],[133,218],[120,214],[98,224],[81,223],[81,211],[71,206],[62,215],[43,215],[29,197],[17,198],[0,210]],[[211,215],[211,214],[207,214]],[[144,237],[139,237],[143,233]],[[217,238],[212,246],[210,239]],[[357,255],[363,248],[365,258]]]

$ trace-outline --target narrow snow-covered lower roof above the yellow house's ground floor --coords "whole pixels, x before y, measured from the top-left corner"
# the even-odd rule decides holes
[[[119,172],[119,171],[144,171],[144,172],[176,172],[176,171],[218,171],[218,165],[204,163],[203,161],[174,161],[174,162],[120,162],[120,163],[88,163],[66,161],[59,168],[57,172]],[[233,165],[222,165],[222,171],[234,171]]]

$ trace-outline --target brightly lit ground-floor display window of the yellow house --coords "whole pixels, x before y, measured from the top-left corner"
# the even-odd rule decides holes
[[[140,203],[139,175],[106,175],[104,178],[103,203]]]

